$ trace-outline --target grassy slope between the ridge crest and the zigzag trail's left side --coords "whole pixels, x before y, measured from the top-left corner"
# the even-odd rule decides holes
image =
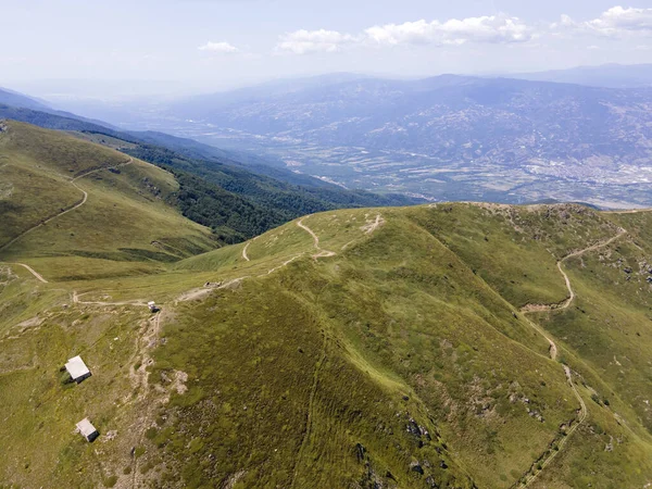
[[[516,306],[564,300],[556,261],[617,233],[579,205],[440,204],[410,214]]]

